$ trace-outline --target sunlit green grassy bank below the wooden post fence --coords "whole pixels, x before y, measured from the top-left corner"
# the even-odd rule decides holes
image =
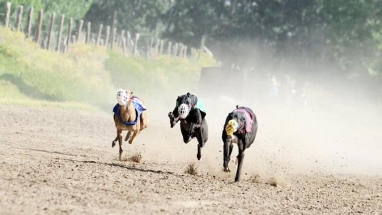
[[[146,60],[83,43],[57,53],[40,49],[23,33],[2,26],[0,62],[0,103],[108,111],[119,88],[138,92],[146,100],[156,96],[158,89],[192,90],[201,68],[215,65],[207,56]]]

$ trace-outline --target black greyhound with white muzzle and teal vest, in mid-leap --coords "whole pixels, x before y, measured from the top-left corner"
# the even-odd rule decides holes
[[[170,127],[174,127],[180,120],[180,131],[184,143],[190,142],[194,137],[198,140],[198,160],[202,156],[200,150],[208,140],[208,126],[205,119],[206,112],[200,104],[195,95],[187,93],[178,96],[176,107],[172,112],[168,113]]]

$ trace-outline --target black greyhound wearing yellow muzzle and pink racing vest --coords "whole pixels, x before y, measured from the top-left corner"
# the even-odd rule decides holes
[[[257,120],[254,111],[251,108],[236,106],[232,112],[230,112],[224,123],[222,139],[223,146],[223,167],[225,172],[230,172],[228,163],[233,143],[237,143],[239,147],[238,169],[236,171],[235,182],[240,180],[240,174],[243,166],[244,151],[251,146],[255,141],[257,132]]]

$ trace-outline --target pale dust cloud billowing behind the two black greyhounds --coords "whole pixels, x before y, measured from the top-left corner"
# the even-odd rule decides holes
[[[232,179],[237,146],[230,162],[232,172],[223,173],[221,134],[225,117],[240,105],[252,108],[258,120],[255,142],[246,150],[243,179],[382,174],[378,88],[363,79],[337,75],[335,66],[314,60],[304,66],[298,60],[272,60],[261,52],[255,58],[249,56],[254,55],[241,57],[244,67],[230,64],[205,69],[192,89],[145,98],[151,125],[137,138],[145,146],[128,145],[128,150],[141,151],[143,159],[152,162],[179,163],[180,168],[195,162],[201,174]],[[196,159],[197,140],[184,144],[179,125],[170,128],[167,118],[176,97],[187,92],[197,95],[207,108],[209,140],[200,161]]]

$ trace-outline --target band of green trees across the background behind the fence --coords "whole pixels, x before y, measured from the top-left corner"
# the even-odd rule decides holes
[[[382,73],[381,0],[10,1],[84,18],[92,26],[205,45],[227,63],[242,64],[243,53],[256,56],[261,49],[280,60],[314,59]]]

